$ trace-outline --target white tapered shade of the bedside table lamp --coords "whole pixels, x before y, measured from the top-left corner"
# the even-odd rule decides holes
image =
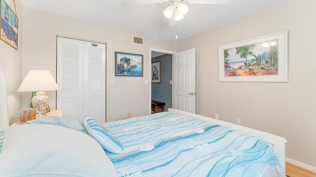
[[[48,70],[30,70],[17,92],[58,90],[53,76]]]

